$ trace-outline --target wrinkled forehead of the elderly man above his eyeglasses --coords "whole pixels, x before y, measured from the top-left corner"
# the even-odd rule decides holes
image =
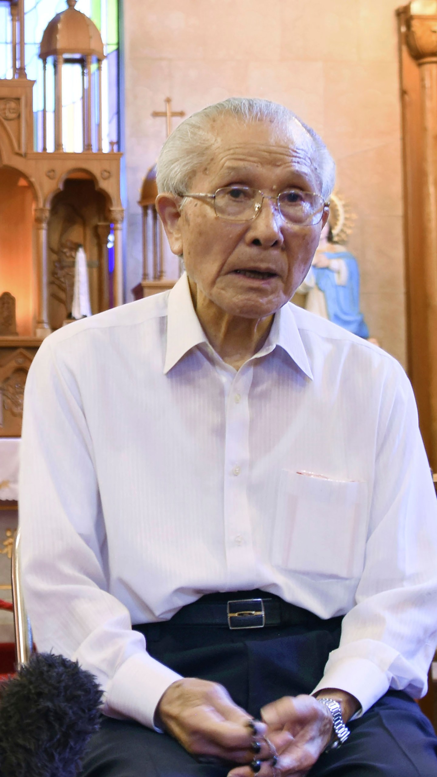
[[[321,188],[322,170],[313,138],[293,117],[278,122],[223,116],[212,120],[210,133],[211,145],[201,171],[206,176],[215,177],[239,164],[293,168]]]

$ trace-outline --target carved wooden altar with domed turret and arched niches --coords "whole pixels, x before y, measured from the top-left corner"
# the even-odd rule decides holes
[[[0,335],[0,437],[20,434],[26,372],[44,337],[65,320],[72,256],[79,245],[88,260],[93,313],[123,302],[121,153],[102,151],[103,43],[99,30],[75,4],[67,0],[68,7],[54,16],[41,40],[44,140],[38,152],[33,146],[34,82],[26,78],[24,62],[24,0],[10,2],[14,77],[0,80],[0,294],[7,291],[15,299],[16,330]],[[49,59],[54,63],[54,151],[47,151]],[[65,64],[74,64],[82,74],[79,153],[65,152],[62,144]],[[98,78],[93,81],[94,68]],[[107,249],[111,230],[113,273]]]

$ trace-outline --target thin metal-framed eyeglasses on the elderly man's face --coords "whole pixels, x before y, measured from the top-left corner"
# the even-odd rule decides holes
[[[226,221],[251,221],[257,218],[263,200],[274,200],[279,214],[291,224],[313,226],[321,221],[328,202],[315,192],[302,192],[299,189],[287,189],[276,197],[271,197],[259,189],[250,186],[224,186],[214,194],[198,192],[180,194],[180,197],[196,197],[209,200],[214,204],[215,214]]]

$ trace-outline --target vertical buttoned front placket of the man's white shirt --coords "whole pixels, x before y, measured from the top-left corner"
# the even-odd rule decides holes
[[[225,402],[225,458],[223,523],[229,587],[250,584],[255,574],[253,535],[248,501],[249,480],[249,391],[253,362],[236,372],[215,361],[222,379]]]

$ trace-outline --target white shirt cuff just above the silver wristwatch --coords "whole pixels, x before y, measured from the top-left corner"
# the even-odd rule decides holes
[[[390,688],[390,679],[386,672],[372,661],[366,658],[350,658],[342,660],[323,674],[320,683],[316,685],[313,693],[322,691],[323,688],[338,688],[355,696],[361,705],[359,713],[353,716],[359,717],[365,713],[378,699]]]

